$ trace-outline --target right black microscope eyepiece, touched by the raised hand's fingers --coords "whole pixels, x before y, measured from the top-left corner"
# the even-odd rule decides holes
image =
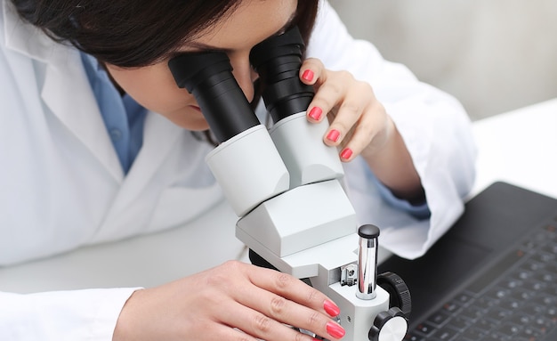
[[[305,45],[297,27],[255,45],[249,59],[263,86],[263,101],[270,116],[282,118],[308,109],[313,87],[299,78]]]

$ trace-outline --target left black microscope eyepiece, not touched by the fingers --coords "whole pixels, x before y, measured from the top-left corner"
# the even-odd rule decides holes
[[[168,68],[176,84],[195,96],[219,142],[260,124],[226,53],[183,53],[168,61]]]

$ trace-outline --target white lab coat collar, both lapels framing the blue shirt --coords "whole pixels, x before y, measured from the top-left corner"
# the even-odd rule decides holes
[[[29,64],[29,68],[44,68],[41,96],[46,106],[122,185],[118,195],[122,199],[117,201],[135,198],[163,164],[168,151],[173,148],[177,137],[184,134],[184,130],[166,118],[149,112],[145,120],[143,147],[125,177],[102,121],[80,53],[74,47],[55,43],[40,29],[20,20],[9,1],[2,3],[7,49],[38,61],[34,63],[35,66]],[[36,69],[32,69],[33,72],[37,74]],[[37,85],[41,86],[41,82],[37,81]]]

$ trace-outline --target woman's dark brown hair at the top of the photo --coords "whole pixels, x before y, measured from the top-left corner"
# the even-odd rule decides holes
[[[12,0],[20,16],[54,40],[122,68],[162,61],[230,15],[242,0]],[[264,1],[264,0],[260,0]],[[272,1],[272,0],[268,0]],[[292,25],[306,40],[318,0],[300,0]]]

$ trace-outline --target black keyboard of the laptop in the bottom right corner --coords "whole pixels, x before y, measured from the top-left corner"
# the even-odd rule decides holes
[[[404,340],[540,341],[555,329],[557,217],[532,230]]]

